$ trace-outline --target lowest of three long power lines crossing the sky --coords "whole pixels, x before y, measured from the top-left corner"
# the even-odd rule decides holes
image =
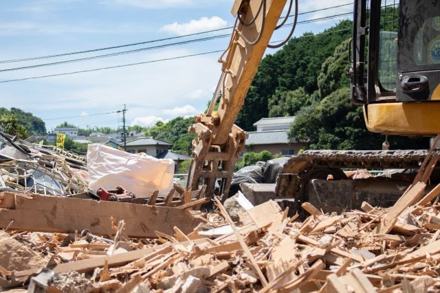
[[[309,38],[309,37],[312,37],[312,36],[320,36],[320,35],[324,35],[324,34],[333,34],[333,33],[336,33],[336,32],[345,32],[345,31],[348,31],[348,30],[351,30],[351,29],[342,29],[342,30],[336,30],[336,31],[330,31],[330,32],[323,32],[323,33],[320,33],[320,34],[311,34],[311,35],[299,36],[299,37],[296,37],[296,38],[293,38],[293,39]],[[271,43],[273,43],[273,42],[271,42]],[[115,65],[115,66],[110,66],[110,67],[100,67],[100,68],[96,68],[96,69],[87,69],[87,70],[81,70],[81,71],[72,71],[72,72],[57,73],[57,74],[50,74],[50,75],[40,75],[40,76],[31,77],[31,78],[17,78],[17,79],[12,79],[12,80],[2,80],[2,81],[0,81],[0,83],[18,82],[18,81],[22,81],[22,80],[35,80],[35,79],[39,79],[39,78],[51,78],[51,77],[60,76],[60,75],[72,75],[72,74],[76,74],[76,73],[85,73],[85,72],[100,71],[100,70],[114,69],[114,68],[120,68],[120,67],[129,67],[129,66],[134,66],[134,65],[142,65],[142,64],[162,62],[162,61],[167,61],[167,60],[176,60],[176,59],[182,59],[182,58],[189,58],[189,57],[195,57],[195,56],[201,56],[201,55],[214,54],[214,53],[219,53],[219,52],[223,52],[223,50],[208,51],[208,52],[203,52],[203,53],[198,53],[198,54],[176,56],[176,57],[163,58],[163,59],[157,59],[157,60],[150,60],[150,61],[144,61],[144,62],[135,62],[135,63],[129,63],[129,64],[125,64],[125,65]]]

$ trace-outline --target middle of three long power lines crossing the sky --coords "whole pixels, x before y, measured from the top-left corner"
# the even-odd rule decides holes
[[[327,19],[334,19],[334,18],[341,17],[341,16],[347,16],[349,14],[351,14],[351,12],[342,13],[342,14],[335,14],[335,15],[331,15],[331,16],[323,16],[323,17],[320,17],[318,19],[309,19],[307,21],[299,21],[297,24],[300,25],[300,24],[312,23],[312,22],[316,22],[316,21],[323,21],[323,20],[327,20]],[[289,27],[289,26],[292,26],[292,25],[293,25],[293,23],[287,23],[287,24],[283,25],[283,27]],[[44,64],[39,64],[39,65],[30,65],[30,66],[25,66],[25,67],[14,67],[14,68],[9,68],[9,69],[0,69],[0,72],[16,71],[16,70],[23,70],[23,69],[33,69],[33,68],[37,68],[37,67],[61,65],[61,64],[67,64],[67,63],[72,63],[72,62],[94,60],[94,59],[98,59],[98,58],[108,58],[108,57],[113,57],[113,56],[120,56],[120,55],[125,55],[125,54],[138,53],[140,51],[148,51],[148,50],[153,50],[153,49],[162,49],[162,48],[165,48],[165,47],[170,47],[170,46],[175,46],[175,45],[187,45],[187,44],[190,44],[190,43],[203,42],[203,41],[206,41],[206,40],[214,40],[214,39],[217,39],[217,38],[225,38],[225,37],[228,37],[228,36],[230,36],[230,34],[222,34],[222,35],[210,36],[210,37],[206,37],[206,38],[198,38],[198,39],[194,39],[194,40],[185,40],[185,41],[177,42],[177,43],[168,43],[168,44],[157,45],[157,46],[153,46],[153,47],[145,47],[145,48],[133,49],[133,50],[129,50],[129,51],[120,51],[120,52],[115,52],[115,53],[111,53],[111,54],[104,54],[104,55],[91,56],[91,57],[85,57],[85,58],[77,58],[77,59],[72,59],[72,60],[64,60],[64,61],[51,62],[51,63],[44,63]]]

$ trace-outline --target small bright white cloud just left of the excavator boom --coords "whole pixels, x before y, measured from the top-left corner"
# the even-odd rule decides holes
[[[201,17],[199,20],[192,19],[189,23],[170,23],[160,28],[162,32],[170,32],[182,36],[184,34],[194,34],[206,30],[217,30],[226,27],[228,23],[219,16]]]

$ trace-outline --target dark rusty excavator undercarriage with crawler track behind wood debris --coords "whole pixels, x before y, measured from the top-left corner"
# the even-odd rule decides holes
[[[306,201],[325,212],[360,209],[364,201],[389,207],[412,183],[427,154],[428,150],[307,150],[284,164],[274,195],[293,198],[296,211]],[[395,173],[352,179],[344,172],[358,169],[393,169]],[[438,178],[436,173],[431,183]]]

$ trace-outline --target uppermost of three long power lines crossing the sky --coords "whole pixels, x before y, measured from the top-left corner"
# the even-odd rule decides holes
[[[325,11],[325,10],[330,10],[333,8],[341,8],[347,5],[353,5],[353,2],[351,3],[346,3],[346,4],[341,4],[341,5],[335,5],[335,6],[331,6],[331,7],[327,7],[327,8],[321,8],[321,9],[317,9],[317,10],[310,10],[307,12],[301,12],[298,13],[298,15],[304,15],[304,14],[309,14],[309,13],[314,13],[314,12],[320,12],[320,11]],[[293,16],[293,14],[289,15],[289,16],[283,16],[281,17],[281,19],[285,18],[285,17],[290,17]],[[69,55],[76,55],[76,54],[85,54],[85,53],[91,53],[91,52],[95,52],[95,51],[104,51],[104,50],[109,50],[109,49],[119,49],[119,48],[123,48],[123,47],[131,47],[131,46],[136,46],[136,45],[144,45],[144,44],[148,44],[148,43],[156,43],[156,42],[161,42],[164,40],[174,40],[177,38],[185,38],[187,36],[197,36],[200,34],[207,34],[207,33],[211,33],[211,32],[220,32],[222,30],[230,30],[233,27],[223,27],[221,29],[217,29],[217,30],[208,30],[208,31],[204,31],[204,32],[197,32],[197,33],[193,33],[193,34],[185,34],[182,36],[173,36],[173,37],[169,37],[169,38],[160,38],[157,40],[146,40],[144,42],[139,42],[139,43],[131,43],[131,44],[126,44],[126,45],[117,45],[117,46],[111,46],[111,47],[102,47],[102,48],[98,48],[98,49],[89,49],[89,50],[84,50],[84,51],[74,51],[74,52],[69,52],[69,53],[63,53],[63,54],[53,54],[53,55],[47,55],[47,56],[39,56],[39,57],[29,57],[29,58],[20,58],[20,59],[12,59],[12,60],[1,60],[0,63],[11,63],[11,62],[22,62],[22,61],[29,61],[29,60],[38,60],[38,59],[45,59],[45,58],[55,58],[55,57],[61,57],[61,56],[69,56]]]

